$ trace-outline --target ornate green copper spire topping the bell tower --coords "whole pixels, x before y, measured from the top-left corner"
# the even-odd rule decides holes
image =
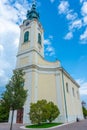
[[[32,8],[31,10],[27,11],[27,19],[29,20],[32,20],[32,19],[37,19],[39,20],[39,13],[36,11],[36,1],[33,0],[33,3],[32,3]]]

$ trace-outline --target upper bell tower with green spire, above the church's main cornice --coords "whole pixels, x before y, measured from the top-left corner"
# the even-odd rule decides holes
[[[31,10],[27,11],[26,19],[20,26],[16,68],[36,63],[38,55],[44,57],[43,33],[34,1]]]

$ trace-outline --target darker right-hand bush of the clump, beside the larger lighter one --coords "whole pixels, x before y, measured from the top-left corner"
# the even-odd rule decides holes
[[[55,120],[58,117],[58,115],[60,114],[57,105],[55,105],[53,102],[48,102],[47,110],[48,110],[47,120],[49,122],[52,122],[53,120]]]

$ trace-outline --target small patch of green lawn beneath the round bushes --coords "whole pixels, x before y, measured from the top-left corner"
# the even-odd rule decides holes
[[[57,125],[61,125],[62,123],[43,123],[41,125],[29,125],[26,128],[49,128]]]

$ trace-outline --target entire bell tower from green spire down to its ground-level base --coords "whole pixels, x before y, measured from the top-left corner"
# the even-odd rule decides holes
[[[44,59],[44,32],[39,22],[35,1],[31,10],[27,11],[26,19],[20,26],[20,40],[17,54],[16,69],[25,71],[24,88],[28,90],[27,100],[22,110],[22,122],[29,123],[30,103],[38,99],[38,65],[39,59]],[[17,119],[17,120],[16,120]],[[15,112],[14,122],[18,122],[18,111]]]

